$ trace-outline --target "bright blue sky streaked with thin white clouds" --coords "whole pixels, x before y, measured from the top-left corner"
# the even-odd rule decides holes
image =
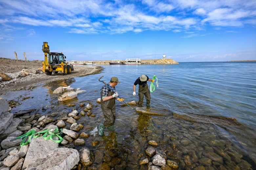
[[[0,1],[0,57],[256,60],[255,0]]]

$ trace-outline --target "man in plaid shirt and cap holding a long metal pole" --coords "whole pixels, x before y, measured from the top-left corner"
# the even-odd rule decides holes
[[[111,77],[110,82],[107,85],[102,86],[100,89],[100,97],[101,97],[101,110],[103,112],[105,121],[98,125],[98,133],[100,136],[103,135],[103,129],[108,128],[108,130],[114,129],[114,123],[116,120],[116,101],[115,99],[118,99],[118,101],[123,101],[123,99],[118,98],[118,93],[116,92],[115,86],[117,83],[120,83],[118,81],[117,77]],[[113,93],[109,88],[112,88],[112,90],[116,93]]]

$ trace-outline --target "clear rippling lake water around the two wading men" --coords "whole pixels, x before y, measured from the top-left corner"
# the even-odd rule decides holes
[[[100,74],[59,80],[1,97],[22,103],[11,112],[44,108],[46,111],[38,111],[41,114],[56,111],[69,113],[73,108],[80,112],[84,109],[79,107],[80,103],[87,105],[92,102],[95,117],[84,116],[77,120],[77,123],[84,125],[79,133],[90,133],[104,121],[100,105],[96,103],[103,86],[98,81],[100,76],[104,76],[101,80],[105,82],[117,76],[121,82],[116,86],[119,96],[125,102],[137,102],[139,87],[136,86],[136,96],[133,96],[134,81],[142,74],[149,78],[155,75],[159,87],[151,93],[150,106],[166,110],[167,115],[138,114],[127,106],[121,107],[123,102],[116,101],[115,131],[105,130],[102,137],[91,135],[85,139],[84,146],[97,156],[93,166],[107,162],[113,169],[122,166],[126,169],[143,168],[145,165],[139,165],[139,160],[146,156],[148,141],[154,140],[158,143],[156,148],[164,151],[167,159],[177,162],[179,169],[200,166],[255,169],[256,62],[181,62],[175,65],[102,67],[104,70]],[[71,101],[57,102],[53,90],[69,85],[87,92],[78,94]],[[20,101],[20,95],[33,98]],[[70,103],[76,106],[66,107]],[[69,127],[67,125],[66,128]],[[99,145],[92,146],[91,142],[95,141]]]

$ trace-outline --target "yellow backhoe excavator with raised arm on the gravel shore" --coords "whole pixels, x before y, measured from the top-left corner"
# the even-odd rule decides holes
[[[61,53],[50,52],[50,47],[48,42],[43,42],[42,51],[44,52],[44,61],[43,62],[43,72],[47,75],[52,75],[52,73],[57,74],[59,71],[63,75],[70,74],[71,71],[74,71],[73,65],[66,64],[66,56]],[[48,57],[47,57],[48,54]]]

